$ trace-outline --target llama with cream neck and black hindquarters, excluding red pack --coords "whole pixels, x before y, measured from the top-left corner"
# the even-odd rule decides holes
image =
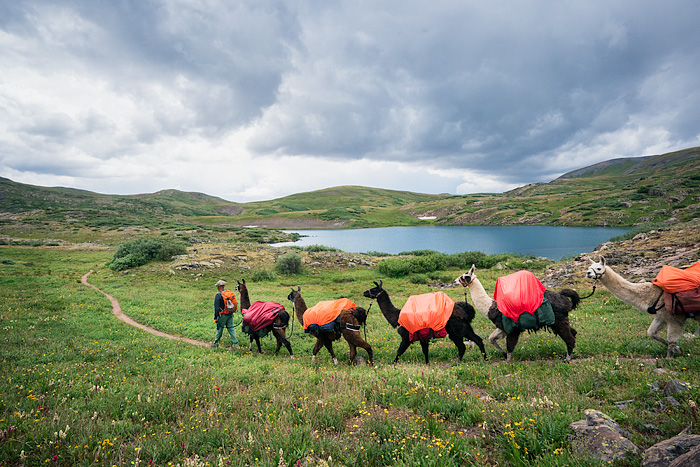
[[[460,283],[463,287],[469,287],[469,293],[472,296],[472,300],[474,300],[476,309],[496,326],[497,329],[489,336],[489,342],[506,357],[507,362],[510,362],[522,331],[516,329],[510,334],[505,332],[502,323],[502,313],[496,306],[496,300],[486,293],[484,286],[477,279],[475,265],[472,264],[469,272],[459,276],[455,282]],[[562,289],[559,292],[545,290],[544,296],[552,305],[552,310],[554,311],[554,324],[547,326],[547,328],[551,329],[555,335],[564,341],[566,344],[566,361],[570,362],[576,346],[577,332],[569,323],[569,312],[576,308],[581,298],[575,290],[571,289]],[[505,352],[497,342],[504,337],[506,338]]]

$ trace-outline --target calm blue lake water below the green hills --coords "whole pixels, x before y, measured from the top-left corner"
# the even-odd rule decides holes
[[[528,226],[425,226],[376,229],[286,230],[303,237],[275,246],[324,245],[348,253],[377,251],[397,254],[412,250],[441,253],[481,251],[519,253],[554,260],[591,252],[626,228]]]

